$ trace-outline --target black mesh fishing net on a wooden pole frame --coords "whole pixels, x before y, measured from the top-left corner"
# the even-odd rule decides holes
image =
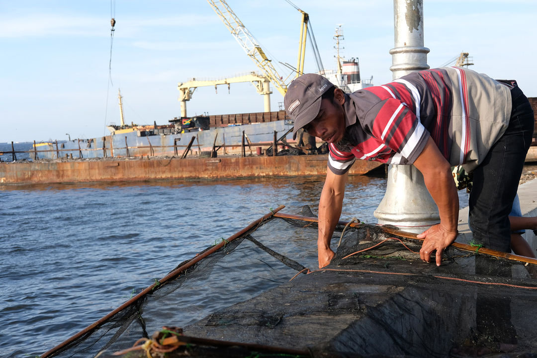
[[[437,267],[340,222],[317,269],[316,218],[277,210],[42,357],[536,356],[536,260],[454,244]]]

